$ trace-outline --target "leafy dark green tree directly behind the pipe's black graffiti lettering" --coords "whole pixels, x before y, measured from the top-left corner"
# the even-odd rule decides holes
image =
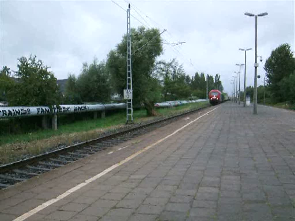
[[[57,79],[48,70],[49,67],[32,55],[29,58],[21,57],[18,61],[16,76],[19,79],[9,90],[9,105],[46,105],[50,108],[52,105],[59,105],[61,95]]]

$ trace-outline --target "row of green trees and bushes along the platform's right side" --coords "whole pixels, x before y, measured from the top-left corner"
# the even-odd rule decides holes
[[[257,88],[258,103],[263,102],[265,93],[265,103],[295,105],[295,58],[291,46],[281,44],[273,50],[265,62],[264,70],[266,86]],[[246,94],[252,100],[253,87],[247,87]]]

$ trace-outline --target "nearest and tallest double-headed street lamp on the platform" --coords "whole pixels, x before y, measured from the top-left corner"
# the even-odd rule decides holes
[[[264,13],[260,13],[260,14],[252,14],[249,12],[246,12],[245,15],[250,16],[250,17],[254,17],[255,16],[255,72],[254,72],[254,95],[253,95],[253,114],[257,114],[257,67],[258,67],[258,63],[257,63],[257,17],[262,17],[265,15],[268,15],[267,12]]]

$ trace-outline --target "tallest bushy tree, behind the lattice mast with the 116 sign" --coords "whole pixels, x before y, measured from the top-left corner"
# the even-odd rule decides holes
[[[148,115],[154,115],[154,103],[160,98],[159,91],[153,90],[159,88],[155,86],[158,81],[153,70],[156,58],[163,52],[160,32],[138,27],[132,28],[131,33],[133,104],[143,104]],[[106,65],[114,90],[122,95],[126,89],[126,34],[116,49],[109,52]]]

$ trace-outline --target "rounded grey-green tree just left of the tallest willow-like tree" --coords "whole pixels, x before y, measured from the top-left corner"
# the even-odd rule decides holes
[[[90,65],[83,63],[77,88],[83,102],[109,101],[112,88],[105,63],[103,61],[98,63],[96,58]]]

